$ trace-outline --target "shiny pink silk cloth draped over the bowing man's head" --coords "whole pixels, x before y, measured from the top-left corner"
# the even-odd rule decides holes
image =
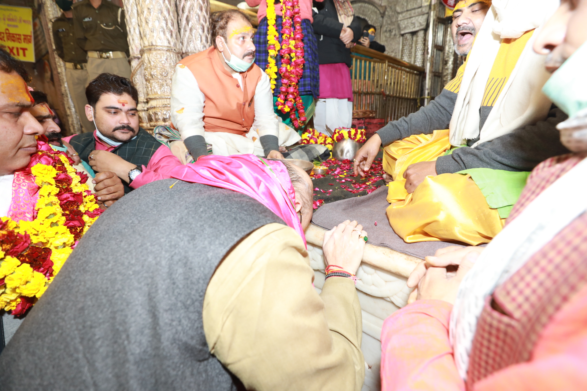
[[[306,236],[295,211],[295,191],[281,162],[255,155],[208,155],[195,163],[177,166],[171,178],[202,183],[254,198],[295,229],[306,245]]]

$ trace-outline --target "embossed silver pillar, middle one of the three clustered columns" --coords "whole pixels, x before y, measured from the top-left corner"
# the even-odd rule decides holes
[[[181,49],[174,0],[137,0],[149,129],[171,122],[171,77]]]

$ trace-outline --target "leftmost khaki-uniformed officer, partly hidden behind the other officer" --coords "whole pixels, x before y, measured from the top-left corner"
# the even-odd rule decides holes
[[[63,13],[53,21],[53,40],[57,55],[65,61],[65,78],[68,81],[69,93],[72,96],[73,106],[82,121],[85,132],[93,132],[94,124],[86,117],[86,86],[87,55],[73,37],[72,0],[56,0]]]

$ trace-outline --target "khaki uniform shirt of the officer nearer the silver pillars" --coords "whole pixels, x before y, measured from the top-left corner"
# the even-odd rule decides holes
[[[73,4],[73,35],[83,50],[129,55],[124,11],[108,0],[94,8],[89,0]],[[120,22],[119,22],[120,16]]]

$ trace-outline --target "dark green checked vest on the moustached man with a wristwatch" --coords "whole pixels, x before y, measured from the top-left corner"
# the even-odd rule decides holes
[[[94,138],[93,132],[75,135],[69,140],[69,144],[79,154],[80,159],[86,163],[90,160],[90,153],[96,149],[96,139]],[[143,128],[139,128],[139,133],[137,133],[136,138],[128,142],[123,142],[123,144],[114,148],[112,153],[140,167],[141,165],[147,166],[149,164],[151,157],[153,157],[159,147],[161,147],[161,143],[156,138]],[[124,194],[133,191],[133,188],[127,185],[125,181],[122,184],[124,185]]]

